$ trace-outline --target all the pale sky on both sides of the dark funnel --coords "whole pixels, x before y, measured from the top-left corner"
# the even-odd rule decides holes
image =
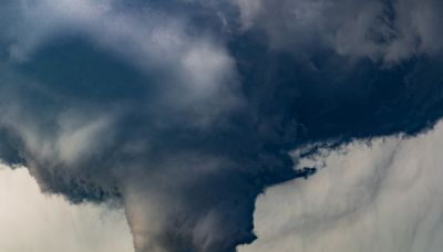
[[[318,174],[260,195],[258,240],[238,251],[440,251],[442,146],[439,123],[415,137],[353,141],[301,159]],[[1,167],[0,181],[3,251],[133,251],[121,210],[42,195],[24,168]]]

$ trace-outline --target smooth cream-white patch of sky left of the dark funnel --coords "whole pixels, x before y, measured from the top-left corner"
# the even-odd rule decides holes
[[[24,168],[0,167],[0,251],[134,251],[122,210],[42,195]]]

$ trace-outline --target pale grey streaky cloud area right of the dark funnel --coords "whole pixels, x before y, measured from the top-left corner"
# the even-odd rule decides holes
[[[443,248],[443,123],[414,138],[390,137],[322,151],[308,180],[257,200],[258,240],[239,252],[410,251]]]

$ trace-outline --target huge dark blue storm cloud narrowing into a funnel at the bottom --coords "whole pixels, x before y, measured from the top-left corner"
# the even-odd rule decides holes
[[[437,15],[422,12],[437,7],[8,2],[2,159],[73,202],[121,201],[137,251],[234,251],[255,239],[256,196],[299,176],[289,150],[441,117]],[[406,53],[371,35],[391,32]]]

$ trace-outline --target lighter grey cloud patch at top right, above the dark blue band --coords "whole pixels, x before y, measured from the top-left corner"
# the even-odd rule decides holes
[[[319,46],[387,63],[442,50],[442,3],[434,0],[237,0],[243,25],[268,33],[278,50]]]

